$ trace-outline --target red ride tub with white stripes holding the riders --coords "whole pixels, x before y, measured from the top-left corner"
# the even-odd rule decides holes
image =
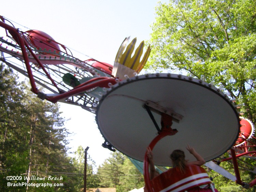
[[[184,173],[174,167],[152,179],[155,192],[186,191],[204,184],[210,184],[211,190],[214,191],[211,183],[204,168],[197,165],[187,166]]]

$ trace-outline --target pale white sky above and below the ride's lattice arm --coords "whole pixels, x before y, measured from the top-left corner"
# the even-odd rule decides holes
[[[44,31],[69,47],[83,60],[87,55],[96,60],[114,63],[123,40],[131,36],[139,42],[150,38],[159,0],[1,0],[0,15],[28,29]],[[162,0],[161,2],[168,2]],[[15,25],[15,23],[13,23]],[[4,34],[0,34],[3,36]],[[82,55],[84,54],[84,55]],[[87,57],[86,57],[87,58]],[[68,138],[70,152],[79,145],[89,147],[88,154],[99,166],[110,157],[95,115],[79,106],[61,104],[62,117],[69,119],[65,127],[72,132]]]

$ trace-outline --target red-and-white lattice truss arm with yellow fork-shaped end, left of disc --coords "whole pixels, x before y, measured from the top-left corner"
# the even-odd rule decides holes
[[[109,85],[127,74],[131,77],[139,73],[150,53],[148,47],[140,62],[143,41],[131,57],[136,38],[124,52],[129,40],[126,38],[118,50],[114,67],[89,56],[82,61],[48,34],[23,26],[16,28],[3,16],[0,19],[0,61],[28,77],[32,91],[41,99],[78,105],[92,113]],[[129,66],[131,62],[133,65]],[[44,89],[39,90],[37,85]]]

